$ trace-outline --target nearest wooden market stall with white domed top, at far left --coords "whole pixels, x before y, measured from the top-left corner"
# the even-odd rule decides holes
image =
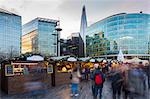
[[[45,92],[52,87],[53,67],[41,56],[2,62],[2,91],[7,94]]]

